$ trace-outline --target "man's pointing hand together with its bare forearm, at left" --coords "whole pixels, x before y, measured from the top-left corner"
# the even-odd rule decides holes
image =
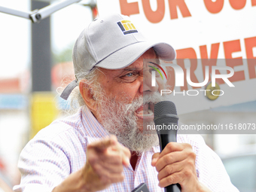
[[[54,192],[103,190],[110,184],[123,181],[123,165],[130,164],[130,150],[111,136],[87,146],[87,162],[82,169],[69,175],[54,188]]]

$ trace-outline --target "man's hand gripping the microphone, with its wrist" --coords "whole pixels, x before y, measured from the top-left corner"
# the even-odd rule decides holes
[[[187,143],[170,142],[152,157],[160,187],[181,184],[181,192],[209,191],[197,179],[196,154]]]

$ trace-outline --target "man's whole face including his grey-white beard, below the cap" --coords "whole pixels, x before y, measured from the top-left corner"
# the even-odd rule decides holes
[[[100,69],[100,87],[94,90],[96,118],[119,142],[138,153],[159,144],[156,133],[143,130],[143,125],[154,123],[154,103],[163,100],[158,93],[160,86],[151,87],[151,68],[143,62],[156,58],[150,49],[124,69]]]

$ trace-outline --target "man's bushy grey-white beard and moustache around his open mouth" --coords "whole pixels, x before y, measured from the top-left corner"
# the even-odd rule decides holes
[[[118,142],[138,155],[159,145],[157,132],[155,130],[153,133],[145,131],[145,127],[148,124],[154,125],[154,121],[144,122],[144,125],[139,125],[135,112],[143,104],[162,101],[163,97],[159,93],[141,96],[138,99],[134,99],[132,103],[127,104],[128,98],[123,99],[123,102],[116,102],[114,98],[104,96],[102,88],[98,87],[97,90],[99,91],[94,93],[96,93],[95,98],[98,103],[99,119],[108,133],[117,136]]]

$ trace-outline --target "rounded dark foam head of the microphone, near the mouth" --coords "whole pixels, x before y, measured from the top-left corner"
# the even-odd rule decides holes
[[[154,123],[177,123],[178,116],[175,104],[170,101],[157,102],[154,105]]]

